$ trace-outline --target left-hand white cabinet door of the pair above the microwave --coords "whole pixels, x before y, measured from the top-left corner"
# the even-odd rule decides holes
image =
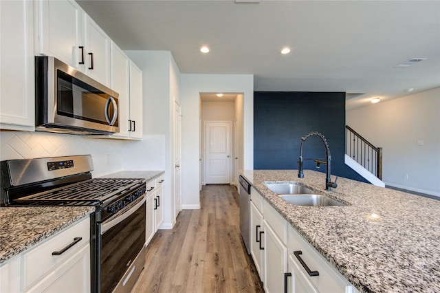
[[[83,71],[83,10],[75,1],[46,1],[38,7],[39,54],[54,56]]]

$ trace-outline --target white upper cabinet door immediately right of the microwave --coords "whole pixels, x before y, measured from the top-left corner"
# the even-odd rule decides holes
[[[111,43],[111,89],[119,94],[119,133],[113,137],[129,138],[130,117],[130,59]]]

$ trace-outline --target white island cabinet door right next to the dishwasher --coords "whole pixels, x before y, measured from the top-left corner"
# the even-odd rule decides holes
[[[262,241],[263,231],[263,215],[259,212],[258,208],[253,202],[250,202],[250,254],[254,259],[255,267],[261,280],[264,280],[264,252],[262,248],[264,243]]]

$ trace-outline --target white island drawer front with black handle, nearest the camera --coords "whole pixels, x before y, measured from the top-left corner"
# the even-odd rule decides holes
[[[298,250],[302,252],[300,257],[309,269],[318,271],[319,276],[309,276],[294,255],[294,251]],[[289,257],[307,278],[307,283],[313,284],[319,292],[356,292],[355,287],[292,227],[289,227]]]

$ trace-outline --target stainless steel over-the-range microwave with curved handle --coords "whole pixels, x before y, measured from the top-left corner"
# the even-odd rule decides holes
[[[54,57],[35,57],[35,130],[119,132],[119,94]]]

